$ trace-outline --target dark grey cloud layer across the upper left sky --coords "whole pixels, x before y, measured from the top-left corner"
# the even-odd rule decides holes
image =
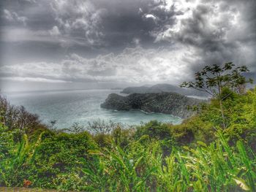
[[[149,4],[148,4],[149,2]],[[152,1],[153,2],[153,1]],[[152,47],[151,31],[170,18],[170,12],[159,14],[157,19],[148,17],[152,9],[150,1],[5,1],[1,3],[1,28],[11,26],[6,33],[20,33],[26,28],[26,41],[42,41],[48,38],[63,47],[79,46],[124,49],[135,39]],[[160,12],[161,10],[153,10]],[[17,23],[20,23],[18,25]],[[21,26],[23,24],[23,27]],[[54,29],[54,30],[53,30]],[[24,30],[23,30],[24,31]],[[51,33],[50,33],[51,31]],[[56,32],[56,33],[54,33]],[[55,41],[51,36],[59,35]],[[12,37],[11,37],[12,38]],[[10,39],[7,38],[7,39]]]

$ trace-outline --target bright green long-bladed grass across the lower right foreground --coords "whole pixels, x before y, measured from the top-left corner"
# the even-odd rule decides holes
[[[97,172],[86,170],[94,191],[255,191],[256,158],[240,141],[219,139],[192,149],[175,149],[163,158],[159,142],[139,150],[100,153]],[[134,147],[134,146],[133,146]],[[99,172],[100,170],[100,172]],[[95,181],[97,181],[95,183]],[[101,188],[101,187],[102,188]]]

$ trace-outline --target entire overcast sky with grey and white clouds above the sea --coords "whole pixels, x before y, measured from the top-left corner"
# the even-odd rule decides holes
[[[255,0],[1,0],[4,91],[192,80],[206,64],[256,77]]]

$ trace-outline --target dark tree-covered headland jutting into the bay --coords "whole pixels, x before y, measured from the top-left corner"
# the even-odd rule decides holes
[[[180,118],[189,118],[195,112],[189,110],[188,107],[198,105],[203,101],[178,93],[132,93],[128,96],[111,93],[100,107],[109,110],[138,109],[145,112],[162,112]]]

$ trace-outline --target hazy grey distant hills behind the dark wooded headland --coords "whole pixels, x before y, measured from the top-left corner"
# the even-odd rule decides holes
[[[172,92],[179,93],[185,96],[208,96],[207,93],[192,90],[189,88],[180,88],[176,85],[170,84],[157,84],[152,86],[143,85],[140,87],[128,87],[124,88],[120,93],[162,93],[162,92]]]

